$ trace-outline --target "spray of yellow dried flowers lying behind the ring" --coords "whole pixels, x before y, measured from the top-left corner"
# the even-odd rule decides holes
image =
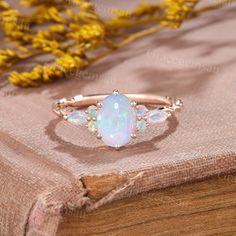
[[[32,12],[25,15],[7,1],[0,0],[0,25],[5,39],[13,45],[0,49],[0,75],[29,57],[49,54],[53,58],[49,64],[36,65],[27,72],[13,71],[9,81],[23,87],[38,86],[66,76],[135,39],[160,30],[160,24],[178,28],[189,16],[197,17],[201,13],[201,10],[194,10],[198,0],[142,3],[130,12],[113,9],[115,16],[111,19],[102,19],[90,0],[20,2],[32,7]],[[73,9],[68,4],[72,4]],[[223,6],[206,6],[202,12]],[[93,53],[88,53],[93,49]]]

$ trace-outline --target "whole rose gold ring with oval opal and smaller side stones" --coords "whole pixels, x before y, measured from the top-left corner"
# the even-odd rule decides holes
[[[85,125],[98,139],[119,149],[150,124],[162,123],[180,110],[180,99],[150,94],[77,95],[53,104],[53,111],[74,125]]]

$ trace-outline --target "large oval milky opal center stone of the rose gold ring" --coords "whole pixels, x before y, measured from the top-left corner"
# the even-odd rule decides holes
[[[131,100],[122,94],[110,95],[103,100],[97,115],[98,133],[103,142],[111,147],[129,143],[136,129],[136,112]]]

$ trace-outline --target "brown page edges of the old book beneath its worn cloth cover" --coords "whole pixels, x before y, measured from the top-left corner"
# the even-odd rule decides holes
[[[65,214],[57,236],[236,235],[236,174]]]

